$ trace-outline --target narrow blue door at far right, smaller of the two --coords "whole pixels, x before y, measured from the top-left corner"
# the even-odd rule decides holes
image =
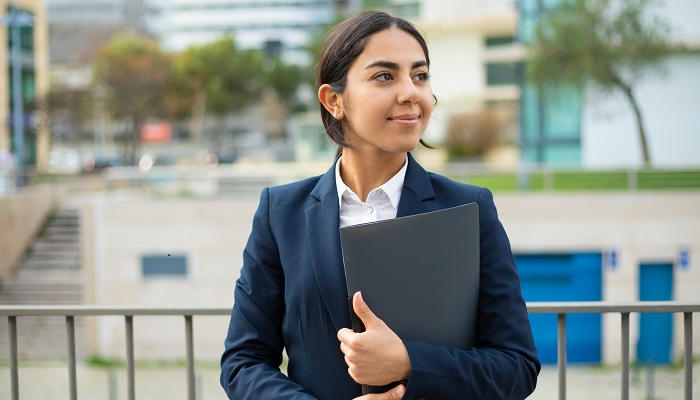
[[[673,264],[639,266],[639,300],[660,301],[673,298]],[[671,361],[673,321],[669,313],[641,313],[637,361],[668,364]]]

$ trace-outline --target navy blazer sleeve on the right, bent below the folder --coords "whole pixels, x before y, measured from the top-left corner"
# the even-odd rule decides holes
[[[405,341],[404,399],[524,399],[540,363],[520,280],[488,189],[479,194],[480,282],[476,344],[467,350]]]

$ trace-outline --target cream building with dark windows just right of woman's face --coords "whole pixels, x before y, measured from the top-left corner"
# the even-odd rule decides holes
[[[520,96],[515,62],[522,58],[515,1],[423,0],[413,20],[428,42],[438,100],[427,141],[462,148],[458,156],[513,145]],[[501,162],[513,166],[515,160]]]

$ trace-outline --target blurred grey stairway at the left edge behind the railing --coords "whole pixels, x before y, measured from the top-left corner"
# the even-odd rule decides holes
[[[0,280],[1,305],[80,304],[83,283],[79,211],[58,208],[15,270]],[[76,317],[77,354],[83,355],[83,318]],[[8,360],[7,318],[0,318],[0,360]],[[17,317],[20,360],[66,359],[61,316]]]

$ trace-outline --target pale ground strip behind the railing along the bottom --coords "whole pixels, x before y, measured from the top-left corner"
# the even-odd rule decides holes
[[[110,384],[110,375],[112,384]],[[68,398],[68,371],[65,365],[51,363],[20,366],[21,400],[54,400]],[[136,398],[139,400],[177,400],[187,398],[187,377],[184,368],[144,367],[136,369]],[[693,367],[693,398],[700,398],[700,363]],[[197,370],[199,400],[226,400],[219,386],[216,367]],[[557,369],[543,368],[537,389],[528,399],[556,400]],[[0,365],[0,399],[10,398],[10,373],[7,364]],[[110,389],[111,386],[111,389]],[[571,367],[567,375],[567,400],[620,399],[620,371],[617,367]],[[646,370],[633,370],[630,399],[646,399]],[[111,393],[110,393],[111,392]],[[78,399],[121,400],[126,398],[126,374],[123,369],[107,370],[89,366],[78,369]],[[657,368],[655,400],[683,398],[683,369]]]

